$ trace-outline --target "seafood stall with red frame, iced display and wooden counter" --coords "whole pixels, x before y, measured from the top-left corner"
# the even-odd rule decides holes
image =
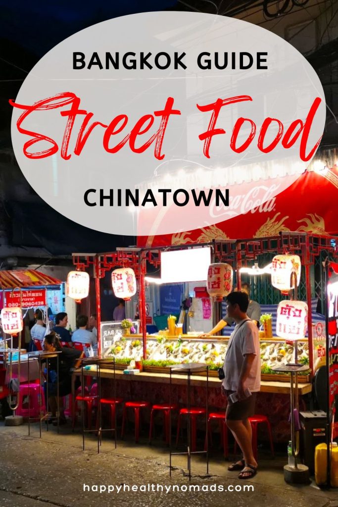
[[[266,255],[269,252],[272,258],[276,255],[285,255],[285,253],[299,256],[309,308],[306,316],[308,324],[307,336],[304,335],[303,339],[297,341],[298,360],[302,361],[305,365],[309,365],[309,370],[299,377],[299,393],[303,395],[311,393],[313,373],[315,368],[324,361],[325,354],[323,316],[315,315],[311,311],[312,296],[314,295],[314,270],[312,266],[322,252],[331,257],[335,255],[335,238],[319,235],[310,236],[307,233],[281,233],[278,236],[269,238],[212,241],[203,244],[192,244],[189,247],[187,245],[172,246],[166,248],[166,250],[189,252],[206,247],[211,248],[211,261],[228,263],[233,267],[234,282],[238,288],[241,286],[241,268],[252,268],[256,260],[259,260],[260,255]],[[179,332],[176,335],[177,328],[175,328],[175,334],[172,332],[170,334],[170,322],[167,318],[162,320],[164,329],[160,329],[152,335],[146,332],[144,289],[146,283],[151,283],[145,279],[146,267],[151,265],[159,270],[162,258],[161,254],[161,248],[123,248],[108,254],[92,254],[90,256],[76,254],[73,256],[73,262],[77,269],[85,270],[92,265],[93,272],[95,273],[96,287],[99,287],[100,277],[104,276],[105,271],[115,270],[116,268],[121,269],[121,267],[133,269],[138,280],[139,333],[137,333],[136,328],[134,334],[128,335],[124,333],[123,329],[119,329],[118,332],[111,334],[109,340],[107,340],[107,334],[104,330],[106,331],[109,322],[100,322],[99,291],[96,290],[99,349],[104,357],[114,356],[116,359],[119,392],[121,394],[125,393],[126,397],[136,394],[144,397],[145,393],[147,393],[151,397],[149,399],[150,402],[160,402],[160,400],[165,402],[168,397],[167,386],[164,385],[169,383],[168,365],[184,361],[207,363],[211,371],[210,405],[215,408],[222,408],[224,402],[220,395],[216,370],[222,365],[229,336],[201,337],[202,330],[197,330],[195,333],[187,331],[189,330],[189,313],[192,315],[190,309],[184,311],[184,333]],[[183,266],[184,276],[187,274],[186,267],[187,264]],[[176,268],[177,271],[178,265],[176,265]],[[179,275],[179,277],[183,275]],[[252,278],[250,276],[250,279],[254,279],[256,275],[257,273],[252,275]],[[266,276],[271,275],[268,274]],[[199,279],[201,280],[201,278]],[[165,280],[166,278],[164,277]],[[176,277],[175,280],[178,281],[179,278]],[[180,281],[187,280],[192,279],[185,278],[184,280],[184,278],[180,278]],[[282,299],[282,296],[280,299]],[[271,311],[272,314],[276,313],[276,308]],[[212,308],[214,323],[221,317],[221,312],[222,304],[214,304]],[[209,317],[210,313],[211,310]],[[132,317],[133,315],[130,316]],[[270,330],[267,334],[263,328],[260,331],[262,383],[261,393],[257,398],[256,410],[259,413],[269,415],[274,428],[275,439],[285,440],[289,431],[287,422],[289,398],[285,396],[290,392],[289,377],[273,373],[272,367],[277,363],[285,364],[294,360],[295,343],[289,343],[287,338],[276,335],[276,319],[273,319]],[[131,361],[133,359],[137,360],[140,357],[143,357],[143,372],[134,376],[124,375],[123,370],[130,365]],[[91,373],[88,372],[88,374]],[[94,372],[92,372],[92,375],[94,375]],[[109,372],[109,369],[107,369],[102,372],[102,376],[111,378],[112,372]],[[203,403],[205,378],[196,375],[192,380],[192,386],[195,389],[193,399],[197,404]],[[152,383],[151,389],[149,389],[149,382]],[[176,395],[179,402],[179,400],[184,400],[184,379],[180,378],[177,374],[175,375],[174,382],[177,384],[178,391]],[[109,389],[108,384],[106,388],[107,390]],[[302,400],[302,403],[303,407],[305,407],[304,400]],[[281,413],[285,414],[284,419],[281,418]]]

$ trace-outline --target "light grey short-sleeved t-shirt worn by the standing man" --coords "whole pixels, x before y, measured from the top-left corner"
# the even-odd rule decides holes
[[[238,380],[245,354],[255,354],[250,373],[244,382],[251,392],[260,389],[260,348],[257,326],[252,320],[246,320],[236,324],[231,334],[226,357],[224,358],[223,370],[226,376],[222,385],[229,391],[237,391]]]

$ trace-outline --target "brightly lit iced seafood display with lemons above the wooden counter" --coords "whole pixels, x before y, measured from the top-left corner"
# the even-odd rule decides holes
[[[282,376],[273,373],[272,368],[294,362],[294,346],[280,338],[260,339],[261,372],[275,379]],[[146,360],[143,369],[164,368],[179,363],[206,363],[211,371],[223,364],[227,351],[228,337],[199,338],[198,335],[169,337],[164,334],[149,335],[146,338]],[[111,346],[104,351],[105,357],[115,357],[117,365],[126,365],[131,359],[143,357],[141,335],[116,335]],[[308,340],[298,341],[298,363],[309,364]],[[264,378],[264,377],[263,377]],[[269,377],[270,378],[270,377]]]

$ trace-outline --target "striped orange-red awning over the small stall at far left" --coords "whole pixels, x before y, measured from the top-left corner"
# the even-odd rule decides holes
[[[58,278],[45,275],[41,271],[27,269],[25,271],[0,271],[0,289],[38,287],[41,285],[60,285]]]

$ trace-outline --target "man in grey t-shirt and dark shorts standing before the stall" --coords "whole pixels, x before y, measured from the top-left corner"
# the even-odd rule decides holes
[[[245,292],[232,292],[227,301],[228,314],[235,320],[236,326],[224,358],[222,390],[228,397],[226,422],[243,453],[243,459],[229,466],[228,470],[242,470],[238,478],[250,479],[257,473],[248,418],[254,414],[256,392],[260,389],[258,329],[247,316],[249,297]],[[245,393],[247,388],[251,391],[249,396]],[[233,393],[238,396],[235,403],[229,399]]]

